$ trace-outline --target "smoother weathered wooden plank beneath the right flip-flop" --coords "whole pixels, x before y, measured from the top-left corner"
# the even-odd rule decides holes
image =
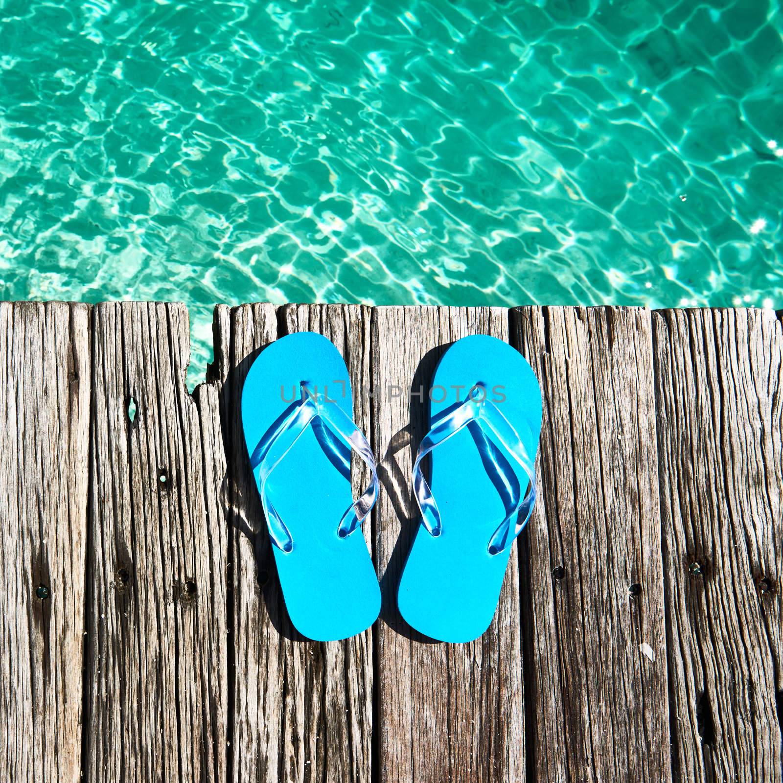
[[[435,364],[449,342],[467,334],[507,340],[507,323],[504,309],[373,311],[373,443],[382,484],[375,525],[384,601],[375,675],[381,781],[525,779],[515,555],[492,625],[470,644],[430,644],[402,622],[396,607],[418,524],[410,471],[426,431]]]

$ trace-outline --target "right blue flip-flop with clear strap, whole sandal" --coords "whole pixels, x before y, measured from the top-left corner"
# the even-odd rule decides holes
[[[430,425],[413,466],[421,521],[397,600],[420,633],[466,642],[489,628],[511,544],[536,502],[539,383],[507,343],[464,337],[435,370]]]

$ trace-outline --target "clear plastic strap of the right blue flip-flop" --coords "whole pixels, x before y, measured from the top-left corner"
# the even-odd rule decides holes
[[[489,400],[487,390],[483,384],[476,384],[471,388],[464,402],[456,406],[451,413],[447,413],[446,416],[438,420],[422,439],[416,455],[416,461],[413,464],[413,494],[419,505],[424,527],[431,536],[439,536],[442,532],[440,511],[438,511],[438,504],[432,495],[430,485],[424,478],[424,473],[421,470],[421,461],[433,449],[446,442],[453,435],[456,435],[457,432],[467,427],[472,421],[482,428],[482,437],[487,438],[485,433],[487,429],[489,430],[496,441],[500,443],[500,446],[503,446],[503,449],[511,455],[514,462],[521,467],[527,478],[527,481],[524,483],[518,482],[515,473],[509,474],[505,465],[500,464],[495,459],[491,460],[490,470],[493,472],[494,477],[507,489],[509,501],[507,503],[509,511],[495,532],[493,532],[487,545],[490,554],[498,554],[506,547],[509,541],[508,534],[511,530],[511,521],[516,518],[513,539],[519,535],[530,518],[533,505],[536,503],[536,475],[532,460],[517,431],[511,422],[503,416],[500,408]],[[520,485],[526,487],[523,496],[520,496]]]

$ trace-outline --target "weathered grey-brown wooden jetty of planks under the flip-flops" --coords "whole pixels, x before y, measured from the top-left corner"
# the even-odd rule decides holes
[[[345,356],[382,482],[381,619],[329,644],[287,619],[238,416],[298,330]],[[541,382],[539,503],[489,631],[433,644],[394,598],[424,403],[384,390],[473,333]],[[0,779],[780,783],[774,312],[254,304],[214,334],[191,395],[184,305],[0,303]]]

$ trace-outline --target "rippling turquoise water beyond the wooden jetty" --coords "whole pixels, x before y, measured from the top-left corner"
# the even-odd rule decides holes
[[[780,306],[740,2],[0,3],[0,298]]]

